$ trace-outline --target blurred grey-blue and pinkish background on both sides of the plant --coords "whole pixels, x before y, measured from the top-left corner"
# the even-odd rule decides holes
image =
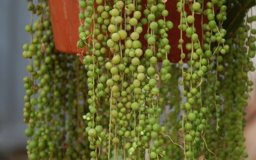
[[[24,27],[30,23],[28,3],[23,0],[0,1],[0,160],[23,160],[26,156],[23,123],[23,77],[27,75],[28,60],[22,56],[22,46],[30,41]],[[256,8],[253,9],[256,15]],[[256,28],[256,24],[253,24]],[[256,59],[253,59],[254,63]],[[256,72],[249,77],[256,88]],[[247,160],[256,159],[256,89],[250,95],[247,109]]]

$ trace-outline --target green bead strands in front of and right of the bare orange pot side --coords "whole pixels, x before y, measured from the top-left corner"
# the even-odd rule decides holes
[[[226,6],[224,0],[178,1],[180,37],[166,34],[173,28],[166,19],[169,2],[142,3],[81,0],[79,4],[77,45],[88,49],[83,63],[91,97],[84,119],[89,122],[92,159],[245,158],[243,107],[252,85],[247,73],[254,70],[249,58],[254,57],[255,33],[247,35],[246,21],[239,24],[237,35],[225,38],[227,7],[237,2]],[[208,20],[202,20],[203,31],[194,26],[195,14]],[[145,50],[141,37],[147,41]],[[190,42],[184,43],[183,37]],[[167,59],[172,52],[168,38],[179,39],[178,66]],[[185,49],[190,51],[187,64]]]

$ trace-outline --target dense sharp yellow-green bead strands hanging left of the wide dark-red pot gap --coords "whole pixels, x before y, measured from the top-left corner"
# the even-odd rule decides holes
[[[172,78],[166,32],[173,23],[165,19],[168,11],[162,1],[148,1],[142,18],[141,2],[79,4],[78,47],[88,49],[83,63],[88,71],[90,112],[84,119],[89,121],[86,132],[92,159],[144,159],[147,152],[151,159],[159,159],[166,154],[166,126],[160,122],[164,94],[159,86]]]

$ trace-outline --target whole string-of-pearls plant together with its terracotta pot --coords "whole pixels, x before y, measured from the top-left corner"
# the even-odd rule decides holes
[[[255,2],[28,1],[29,159],[248,156]]]

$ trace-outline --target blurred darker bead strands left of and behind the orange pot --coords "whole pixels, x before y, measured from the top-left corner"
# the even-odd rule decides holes
[[[89,159],[86,126],[87,77],[80,60],[54,51],[48,2],[27,0],[31,24],[25,30],[31,42],[23,57],[30,60],[29,76],[23,79],[24,122],[30,160]],[[36,20],[34,20],[36,19]]]

